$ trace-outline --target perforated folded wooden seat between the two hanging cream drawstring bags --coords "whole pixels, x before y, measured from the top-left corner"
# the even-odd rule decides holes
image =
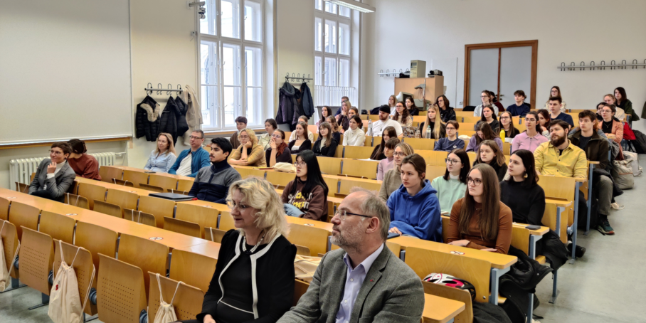
[[[148,306],[144,272],[107,255],[99,254],[99,258],[97,309],[101,321],[139,322],[139,314]]]

